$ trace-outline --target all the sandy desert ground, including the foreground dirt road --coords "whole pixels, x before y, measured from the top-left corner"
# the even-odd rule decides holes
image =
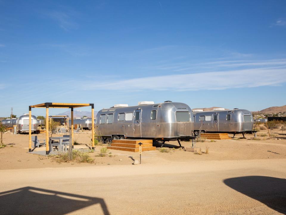
[[[286,136],[274,133],[196,143],[209,154],[143,152],[142,165],[138,153],[97,156],[103,146],[93,164],[59,164],[27,153],[28,135],[4,134],[0,214],[286,214]],[[91,134],[75,138],[83,148]]]

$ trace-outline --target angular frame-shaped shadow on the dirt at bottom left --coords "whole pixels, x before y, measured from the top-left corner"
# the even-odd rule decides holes
[[[0,193],[1,215],[11,214],[68,214],[94,204],[100,204],[102,213],[109,215],[101,198],[80,196],[34,187],[23,187]],[[96,213],[95,213],[96,214]]]

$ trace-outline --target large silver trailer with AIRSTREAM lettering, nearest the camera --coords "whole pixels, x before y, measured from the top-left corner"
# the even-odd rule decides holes
[[[191,108],[179,102],[138,102],[137,106],[114,105],[97,113],[95,132],[103,139],[153,139],[154,141],[194,139]],[[181,144],[180,144],[181,146]]]

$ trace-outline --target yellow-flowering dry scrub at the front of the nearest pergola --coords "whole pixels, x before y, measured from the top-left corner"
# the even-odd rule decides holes
[[[72,151],[72,161],[78,163],[93,163],[94,159],[88,154],[89,152],[82,152],[79,150]],[[59,153],[57,155],[51,156],[56,162],[69,162],[69,153]]]

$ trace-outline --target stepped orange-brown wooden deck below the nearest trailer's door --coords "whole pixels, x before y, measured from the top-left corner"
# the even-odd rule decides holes
[[[139,152],[139,145],[138,143],[143,143],[142,151],[152,151],[156,150],[156,147],[153,146],[152,140],[146,139],[119,139],[119,140],[112,140],[111,146],[108,146],[108,149],[114,150],[121,150],[121,151],[132,151],[132,152]]]

